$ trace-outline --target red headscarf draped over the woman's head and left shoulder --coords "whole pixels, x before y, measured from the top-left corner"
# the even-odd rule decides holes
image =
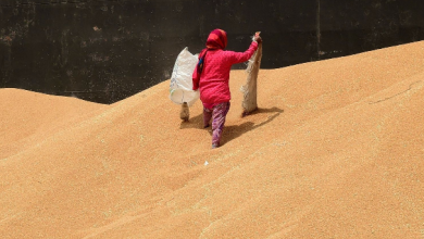
[[[197,64],[198,77],[203,71],[204,58],[208,53],[208,50],[224,50],[227,47],[227,33],[222,29],[214,29],[209,34],[207,40],[207,48],[203,49],[199,54],[199,63]]]

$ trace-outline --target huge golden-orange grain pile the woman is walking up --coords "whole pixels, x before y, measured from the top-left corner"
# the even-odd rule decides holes
[[[261,70],[241,118],[244,79],[216,150],[169,81],[111,105],[0,89],[1,238],[424,237],[423,41]]]

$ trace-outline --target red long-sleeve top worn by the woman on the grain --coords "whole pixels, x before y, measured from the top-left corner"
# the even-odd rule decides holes
[[[245,52],[225,51],[222,49],[208,51],[204,58],[203,71],[198,80],[197,68],[192,74],[192,89],[200,88],[200,100],[207,108],[232,99],[229,92],[229,71],[233,64],[248,61],[258,49],[258,42],[252,41]]]

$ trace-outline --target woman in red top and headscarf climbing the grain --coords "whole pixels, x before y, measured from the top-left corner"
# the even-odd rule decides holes
[[[200,89],[200,100],[203,103],[203,126],[209,127],[212,118],[212,148],[220,147],[225,117],[229,110],[229,71],[233,64],[248,61],[261,42],[255,37],[245,52],[225,51],[227,34],[214,29],[209,35],[207,48],[199,54],[199,63],[192,74],[192,89]]]

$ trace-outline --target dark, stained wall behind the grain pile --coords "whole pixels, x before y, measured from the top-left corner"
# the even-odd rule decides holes
[[[169,79],[214,28],[235,51],[261,30],[276,68],[423,40],[423,0],[0,0],[0,87],[111,103]]]

